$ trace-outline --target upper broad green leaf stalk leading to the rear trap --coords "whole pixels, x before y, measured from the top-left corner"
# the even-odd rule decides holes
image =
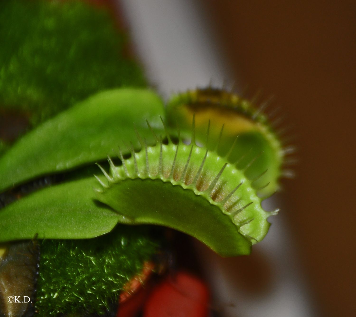
[[[163,103],[156,93],[135,88],[100,92],[49,119],[17,141],[0,158],[0,192],[40,175],[96,162],[119,145],[139,148],[137,132],[147,143],[153,129],[162,131]]]

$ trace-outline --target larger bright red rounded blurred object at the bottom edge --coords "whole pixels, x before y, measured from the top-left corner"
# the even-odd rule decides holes
[[[209,291],[203,281],[178,272],[166,278],[150,294],[143,317],[207,317]]]

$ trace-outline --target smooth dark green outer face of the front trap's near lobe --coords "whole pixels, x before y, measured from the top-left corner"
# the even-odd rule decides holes
[[[133,224],[161,225],[185,232],[222,256],[250,254],[251,242],[239,233],[229,216],[179,185],[158,179],[126,180],[98,197],[132,217]]]

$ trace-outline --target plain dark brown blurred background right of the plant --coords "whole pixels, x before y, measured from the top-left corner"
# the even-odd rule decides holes
[[[323,316],[356,316],[355,1],[202,1],[240,82],[298,136],[288,220]]]

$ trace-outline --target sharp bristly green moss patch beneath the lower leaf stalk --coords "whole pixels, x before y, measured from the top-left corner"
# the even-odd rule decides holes
[[[118,226],[86,240],[43,240],[36,308],[38,316],[104,312],[122,286],[157,250],[148,228]]]

